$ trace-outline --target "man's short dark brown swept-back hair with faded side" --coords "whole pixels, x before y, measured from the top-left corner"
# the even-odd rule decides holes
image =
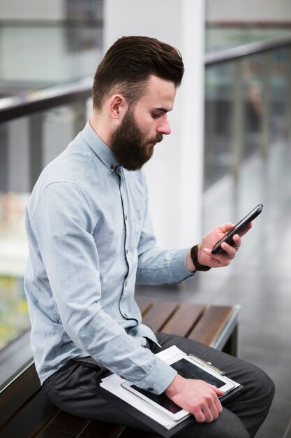
[[[93,106],[100,109],[105,97],[120,92],[133,104],[149,76],[171,80],[179,87],[184,74],[181,53],[167,43],[148,36],[123,36],[105,53],[94,77]]]

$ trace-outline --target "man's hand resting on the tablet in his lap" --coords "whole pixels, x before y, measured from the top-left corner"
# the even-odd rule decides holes
[[[179,407],[195,416],[197,423],[211,423],[223,410],[218,396],[223,391],[202,380],[184,379],[177,376],[165,390],[165,395]]]

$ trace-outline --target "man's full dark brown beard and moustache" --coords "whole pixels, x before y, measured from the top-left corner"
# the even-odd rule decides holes
[[[149,145],[162,140],[163,134],[148,137],[147,132],[137,126],[132,108],[128,108],[121,124],[112,133],[110,147],[124,169],[138,170],[154,153],[154,145]]]

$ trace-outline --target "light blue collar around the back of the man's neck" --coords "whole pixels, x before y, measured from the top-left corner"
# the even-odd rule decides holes
[[[103,164],[105,164],[105,166],[111,171],[114,171],[115,167],[119,165],[119,162],[114,157],[114,154],[109,146],[107,146],[104,141],[100,139],[98,134],[96,134],[89,121],[85,125],[82,134],[90,148],[94,150],[94,153],[98,155]]]

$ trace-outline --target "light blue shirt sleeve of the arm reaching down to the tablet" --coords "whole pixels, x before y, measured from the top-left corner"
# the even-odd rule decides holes
[[[82,351],[107,369],[140,388],[163,393],[177,372],[140,346],[100,304],[98,248],[93,236],[98,218],[86,192],[73,183],[48,185],[29,220],[45,268],[40,289],[45,284],[57,303],[52,318]]]

